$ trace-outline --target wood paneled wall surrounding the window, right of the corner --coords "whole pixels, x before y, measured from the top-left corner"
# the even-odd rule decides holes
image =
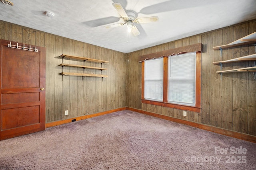
[[[255,46],[246,45],[224,49],[221,58],[220,51],[214,51],[212,47],[231,43],[255,31],[256,20],[129,53],[127,106],[256,136],[256,81],[253,73],[226,73],[221,78],[216,73],[220,66],[212,64],[214,61],[254,54]],[[187,111],[185,117],[180,109],[142,104],[138,56],[195,43],[203,44],[201,113]],[[223,70],[248,66],[254,66],[254,62],[223,64]]]

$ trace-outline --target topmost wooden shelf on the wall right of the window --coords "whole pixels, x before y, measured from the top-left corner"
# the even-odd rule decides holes
[[[229,43],[227,45],[220,45],[217,47],[213,47],[214,50],[220,50],[220,49],[227,49],[230,47],[237,47],[241,45],[248,45],[256,43],[256,32],[251,33],[250,35],[247,35],[245,37],[242,37],[236,41],[233,41],[232,43]]]

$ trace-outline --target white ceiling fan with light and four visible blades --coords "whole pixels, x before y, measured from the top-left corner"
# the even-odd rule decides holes
[[[125,12],[124,8],[120,3],[113,3],[112,5],[114,6],[114,8],[116,8],[117,12],[124,19],[124,21],[121,23],[113,24],[113,25],[107,25],[105,26],[105,28],[119,27],[124,24],[127,24],[128,33],[132,32],[133,35],[137,36],[137,35],[140,35],[140,31],[137,29],[135,25],[133,25],[133,23],[150,23],[150,22],[156,22],[159,20],[158,16],[136,18],[137,15],[135,12],[133,11]]]

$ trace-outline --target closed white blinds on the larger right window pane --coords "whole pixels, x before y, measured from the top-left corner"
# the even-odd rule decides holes
[[[196,53],[168,57],[168,102],[195,106]]]

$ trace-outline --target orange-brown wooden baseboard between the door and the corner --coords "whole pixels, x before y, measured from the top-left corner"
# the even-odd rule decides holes
[[[109,113],[113,113],[113,112],[121,111],[121,110],[125,110],[125,109],[126,109],[126,107],[121,107],[121,108],[118,108],[118,109],[112,109],[112,110],[103,111],[103,112],[99,112],[99,113],[94,113],[94,114],[90,114],[90,115],[73,117],[73,118],[70,118],[70,119],[64,119],[64,120],[60,120],[60,121],[53,121],[53,122],[50,122],[50,123],[46,123],[45,128],[58,126],[58,125],[62,125],[62,124],[65,124],[65,123],[70,123],[74,119],[75,119],[75,121],[80,121],[80,120],[83,120],[83,119],[88,119],[88,118],[91,118],[91,117],[105,115],[105,114],[109,114]]]

